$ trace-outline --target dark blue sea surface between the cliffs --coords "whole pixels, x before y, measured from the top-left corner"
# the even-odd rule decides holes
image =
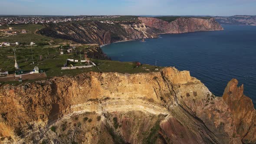
[[[129,41],[103,46],[118,61],[175,66],[188,70],[213,94],[222,96],[236,78],[256,105],[256,26],[223,25],[223,31],[162,34],[146,42]]]

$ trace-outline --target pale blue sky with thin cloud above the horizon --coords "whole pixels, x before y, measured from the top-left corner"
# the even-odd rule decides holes
[[[256,0],[0,0],[0,15],[256,15]]]

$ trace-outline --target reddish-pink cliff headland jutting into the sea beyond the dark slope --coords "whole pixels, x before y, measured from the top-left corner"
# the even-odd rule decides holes
[[[213,18],[178,18],[168,23],[152,17],[138,17],[146,26],[161,30],[161,33],[189,33],[197,31],[223,30],[222,26]]]

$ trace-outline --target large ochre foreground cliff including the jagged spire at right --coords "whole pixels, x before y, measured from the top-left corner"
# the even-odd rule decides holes
[[[0,141],[253,143],[255,110],[242,95],[243,87],[236,84],[231,81],[223,98],[216,97],[188,71],[164,68],[153,73],[90,72],[2,85]]]

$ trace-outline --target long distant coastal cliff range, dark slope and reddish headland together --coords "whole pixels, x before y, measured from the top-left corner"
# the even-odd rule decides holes
[[[77,43],[100,45],[124,40],[156,38],[159,33],[188,33],[223,30],[213,18],[195,17],[138,17],[133,21],[86,21],[48,24],[38,33]]]

